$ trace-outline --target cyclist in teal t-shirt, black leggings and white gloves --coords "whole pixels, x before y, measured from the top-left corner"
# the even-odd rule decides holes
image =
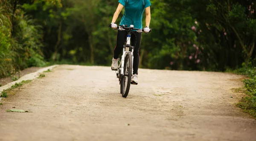
[[[116,12],[113,15],[113,19],[111,22],[111,28],[116,29],[117,24],[116,19],[118,18],[120,12],[122,11],[123,7],[125,7],[125,13],[121,19],[121,22],[119,25],[134,25],[134,28],[136,29],[142,29],[142,17],[143,12],[145,11],[146,19],[145,23],[146,26],[144,28],[144,32],[150,32],[149,24],[151,20],[150,15],[150,0],[119,0],[119,5],[117,6]],[[117,38],[116,38],[116,47],[114,49],[114,55],[112,59],[112,69],[117,70],[118,69],[118,60],[119,60],[119,54],[122,52],[123,45],[125,44],[127,37],[126,31],[120,31],[117,32]],[[139,56],[139,50],[140,50],[140,42],[141,42],[141,33],[140,32],[133,32],[131,34],[131,46],[134,46],[134,63],[133,63],[133,75],[131,78],[132,84],[138,84],[138,69],[139,69],[139,63],[140,63],[140,56]]]

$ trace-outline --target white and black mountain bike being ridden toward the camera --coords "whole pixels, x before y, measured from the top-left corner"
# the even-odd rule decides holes
[[[126,98],[128,96],[130,86],[131,84],[137,83],[131,83],[131,76],[132,76],[132,66],[133,66],[133,52],[134,52],[134,46],[131,46],[131,33],[132,32],[144,32],[143,29],[135,29],[134,25],[131,25],[128,27],[127,25],[118,26],[117,29],[113,30],[122,30],[127,31],[127,40],[125,45],[123,46],[123,52],[122,52],[122,58],[121,62],[119,63],[116,77],[119,78],[119,85],[120,85],[120,93],[122,94],[122,97]],[[150,29],[151,32],[151,29]],[[113,70],[113,69],[112,69]]]

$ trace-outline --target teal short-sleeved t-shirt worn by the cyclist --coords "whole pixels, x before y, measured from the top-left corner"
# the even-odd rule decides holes
[[[121,25],[134,25],[136,29],[142,29],[142,17],[145,8],[151,6],[150,0],[119,0],[125,7],[125,13],[121,19]]]

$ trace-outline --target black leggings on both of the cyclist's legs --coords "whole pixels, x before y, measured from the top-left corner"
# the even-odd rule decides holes
[[[116,37],[116,47],[114,49],[114,59],[119,58],[119,54],[122,52],[123,45],[127,39],[126,31],[118,31]],[[139,64],[140,64],[140,42],[141,33],[132,32],[131,33],[131,46],[134,46],[134,64],[133,64],[133,74],[138,74]]]

